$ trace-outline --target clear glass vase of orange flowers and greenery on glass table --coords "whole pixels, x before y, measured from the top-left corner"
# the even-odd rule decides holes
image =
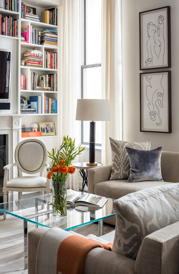
[[[83,150],[84,147],[81,145],[75,147],[75,139],[73,141],[70,137],[64,136],[57,152],[56,149],[52,149],[51,152],[48,151],[48,157],[52,159],[52,162],[50,163],[50,172],[47,178],[52,178],[53,180],[52,215],[55,217],[66,216],[66,180],[69,174],[75,172],[75,168],[71,166],[71,162]]]

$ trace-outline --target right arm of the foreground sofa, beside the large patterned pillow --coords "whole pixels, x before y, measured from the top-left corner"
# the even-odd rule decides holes
[[[179,221],[147,235],[135,261],[135,274],[179,273]]]

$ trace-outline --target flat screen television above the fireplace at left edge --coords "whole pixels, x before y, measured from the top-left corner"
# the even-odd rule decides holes
[[[12,50],[0,48],[0,77],[1,77],[0,109],[10,109],[11,71],[12,71]],[[4,103],[5,103],[5,106],[4,106]]]

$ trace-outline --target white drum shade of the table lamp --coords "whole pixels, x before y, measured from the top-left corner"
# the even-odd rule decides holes
[[[76,120],[80,121],[110,121],[109,100],[78,99]]]

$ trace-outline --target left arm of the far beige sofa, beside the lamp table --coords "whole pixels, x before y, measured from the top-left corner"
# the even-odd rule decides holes
[[[112,165],[90,168],[88,170],[88,193],[95,194],[95,184],[99,182],[109,181],[111,177]]]

